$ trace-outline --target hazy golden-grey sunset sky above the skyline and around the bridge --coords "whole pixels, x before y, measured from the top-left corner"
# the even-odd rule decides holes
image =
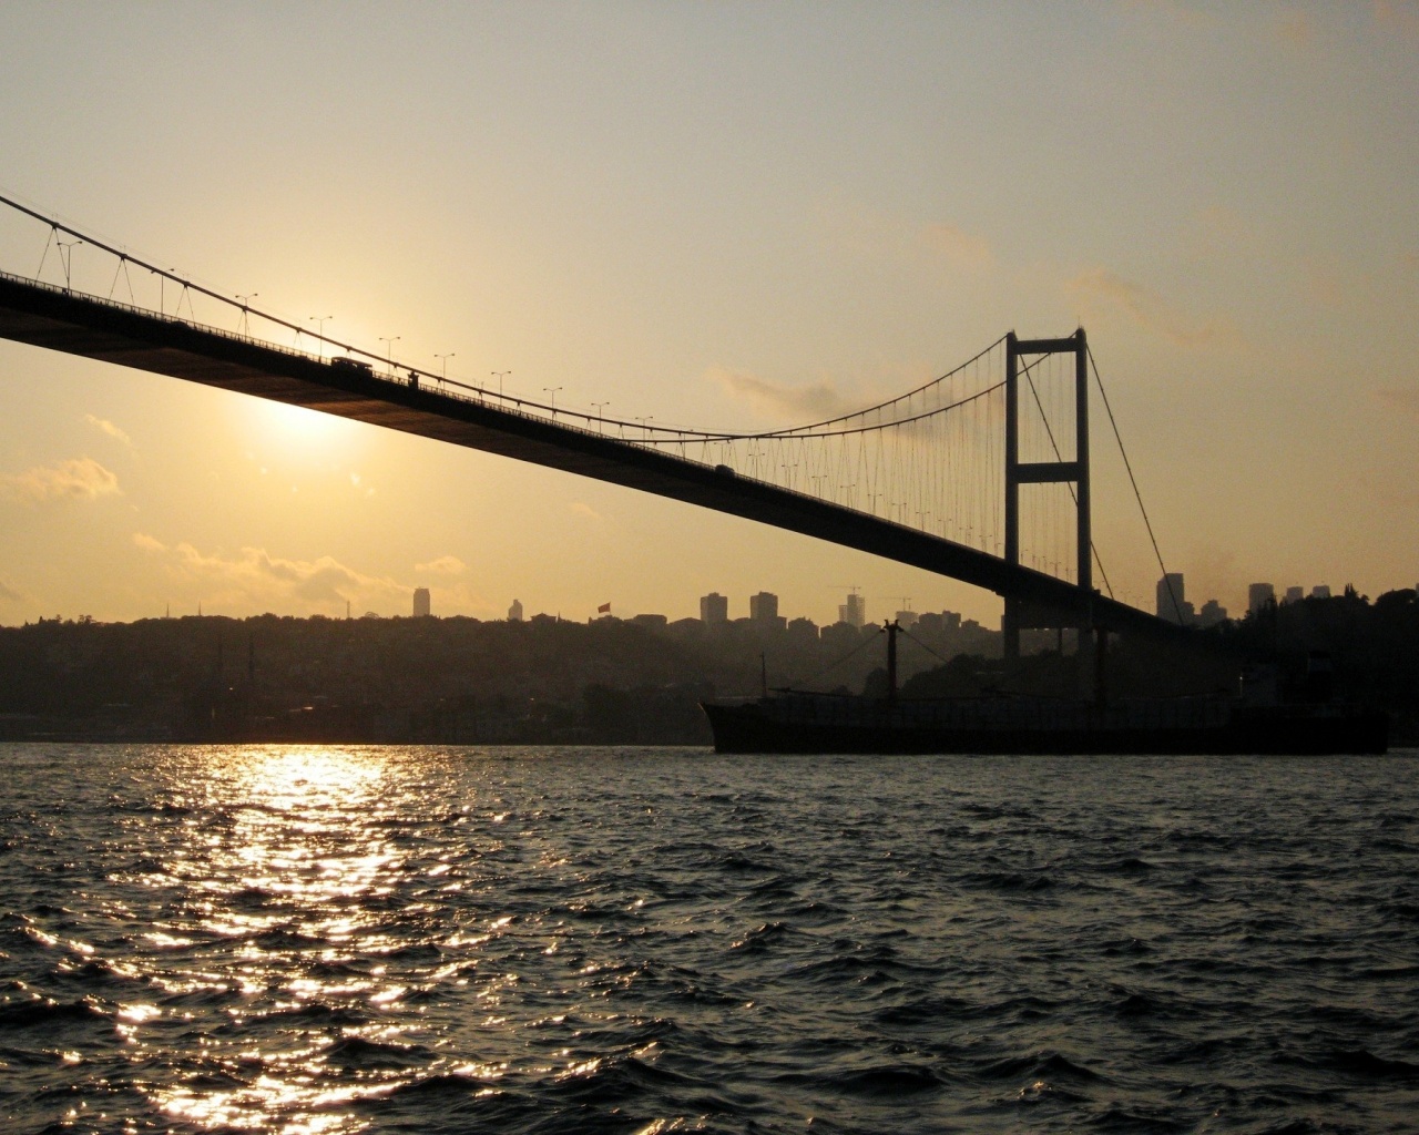
[[[1087,328],[1188,599],[1419,582],[1419,4],[0,6],[0,193],[450,377],[718,428]],[[4,213],[4,210],[0,210]],[[0,217],[0,270],[43,227]],[[72,250],[74,284],[112,267]],[[57,261],[50,254],[45,278]],[[0,623],[827,623],[978,589],[0,343]],[[1095,541],[1158,565],[1095,411]]]

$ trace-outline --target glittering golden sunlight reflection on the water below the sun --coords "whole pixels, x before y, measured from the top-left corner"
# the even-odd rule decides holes
[[[295,955],[312,951],[326,966],[338,963],[342,948],[377,924],[376,914],[360,909],[360,899],[394,890],[403,868],[380,829],[389,807],[400,803],[390,762],[377,751],[324,748],[213,749],[203,756],[193,768],[192,753],[182,753],[177,768],[166,770],[169,782],[193,783],[203,799],[199,814],[226,823],[217,830],[193,824],[192,847],[175,848],[180,863],[175,874],[201,895],[193,904],[201,929],[243,941],[231,955],[230,975],[243,997],[267,1000],[251,1014],[298,1014],[359,997],[372,1006],[397,1002],[406,989],[379,980],[379,968],[368,978],[298,976],[301,970],[292,969]],[[285,935],[271,935],[281,926]],[[358,949],[372,946],[379,943],[360,942]],[[189,970],[177,982],[187,992],[228,987],[227,975],[211,972]],[[234,1027],[248,1016],[238,1006],[226,1012]],[[397,1027],[377,1023],[339,1029],[341,1039],[389,1043],[397,1036]],[[285,1034],[272,1041],[240,1048],[240,1064],[261,1067],[247,1085],[155,1088],[156,1102],[167,1115],[201,1126],[318,1135],[363,1129],[368,1119],[343,1105],[397,1087],[397,1081],[324,1085],[318,1077],[326,1050],[338,1041],[285,1047],[291,1041]]]

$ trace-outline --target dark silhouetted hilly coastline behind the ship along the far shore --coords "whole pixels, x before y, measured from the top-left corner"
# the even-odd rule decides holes
[[[876,634],[843,623],[795,633],[748,620],[707,629],[551,616],[40,620],[0,629],[0,739],[707,745],[705,698],[758,694],[765,680],[880,690],[881,653],[866,641]],[[922,636],[951,661],[904,651],[902,697],[1077,691],[1067,653],[1046,648],[1007,668],[998,633],[978,637],[961,650]],[[1199,640],[1210,648],[1191,657],[1115,644],[1111,692],[1212,692],[1247,660],[1300,698],[1307,660],[1324,653],[1337,697],[1385,709],[1393,745],[1419,743],[1413,590],[1269,606]]]

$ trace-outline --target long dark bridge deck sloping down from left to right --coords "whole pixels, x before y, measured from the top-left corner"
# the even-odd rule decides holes
[[[284,402],[609,481],[800,532],[1091,619],[1176,636],[1155,616],[954,541],[491,402],[413,387],[301,352],[0,274],[0,338]]]

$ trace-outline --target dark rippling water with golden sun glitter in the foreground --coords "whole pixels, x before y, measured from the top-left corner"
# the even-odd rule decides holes
[[[0,1129],[1419,1129],[1419,762],[0,746]]]

